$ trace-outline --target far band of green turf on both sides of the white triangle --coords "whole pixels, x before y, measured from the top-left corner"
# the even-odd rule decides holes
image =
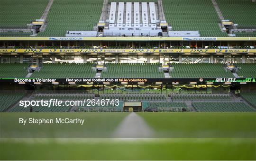
[[[0,113],[1,137],[112,137],[126,113]],[[137,113],[155,137],[256,137],[256,112]],[[19,118],[85,119],[79,124],[19,124]]]

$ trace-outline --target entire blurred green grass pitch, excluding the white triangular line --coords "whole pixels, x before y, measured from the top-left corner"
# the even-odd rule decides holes
[[[0,113],[0,160],[256,160],[255,112],[137,113],[155,137],[172,138],[106,138],[128,114]],[[19,117],[86,122],[21,126]],[[56,138],[76,136],[105,138]]]

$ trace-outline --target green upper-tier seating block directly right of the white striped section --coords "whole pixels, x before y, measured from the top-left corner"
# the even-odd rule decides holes
[[[211,0],[162,0],[165,18],[174,31],[199,31],[200,36],[223,37]]]

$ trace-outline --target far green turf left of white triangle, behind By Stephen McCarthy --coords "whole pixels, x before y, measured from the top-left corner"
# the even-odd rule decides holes
[[[0,113],[1,137],[111,137],[128,113]],[[19,124],[19,118],[85,119],[80,124]],[[7,123],[6,123],[7,122]]]

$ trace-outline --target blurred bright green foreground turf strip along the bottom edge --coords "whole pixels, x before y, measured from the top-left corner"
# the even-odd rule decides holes
[[[0,142],[1,160],[256,160],[255,138],[41,138]]]

